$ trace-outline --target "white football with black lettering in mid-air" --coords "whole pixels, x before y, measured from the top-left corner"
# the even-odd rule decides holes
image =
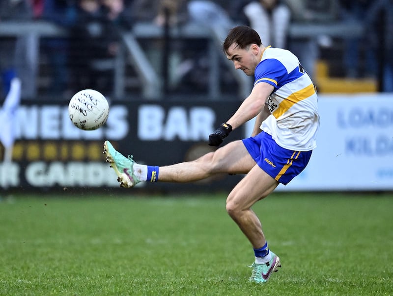
[[[68,114],[76,127],[94,130],[107,121],[109,104],[100,92],[85,89],[71,98],[68,104]]]

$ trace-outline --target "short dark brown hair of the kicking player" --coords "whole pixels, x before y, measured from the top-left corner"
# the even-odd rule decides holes
[[[240,49],[245,49],[251,44],[260,46],[262,44],[258,33],[247,25],[239,25],[232,28],[223,43],[223,50],[227,54],[229,47],[236,43]]]

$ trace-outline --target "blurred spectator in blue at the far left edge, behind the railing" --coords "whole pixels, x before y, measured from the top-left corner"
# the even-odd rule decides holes
[[[31,20],[32,10],[28,0],[1,0],[0,24],[3,21]],[[23,84],[22,96],[31,96],[34,89],[36,61],[31,56],[31,35],[18,37],[0,37],[0,72],[1,89],[5,97],[11,86],[11,80],[19,77]]]

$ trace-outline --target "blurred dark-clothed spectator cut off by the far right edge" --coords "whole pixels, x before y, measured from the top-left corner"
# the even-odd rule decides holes
[[[393,92],[393,0],[375,0],[365,19],[367,44],[378,59],[380,91]],[[369,50],[370,50],[369,49]]]

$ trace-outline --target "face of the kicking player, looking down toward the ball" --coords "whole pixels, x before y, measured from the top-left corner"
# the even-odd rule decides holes
[[[233,62],[236,70],[240,69],[246,75],[252,76],[259,63],[258,53],[259,47],[256,44],[240,49],[236,43],[233,43],[227,50],[226,58]]]

